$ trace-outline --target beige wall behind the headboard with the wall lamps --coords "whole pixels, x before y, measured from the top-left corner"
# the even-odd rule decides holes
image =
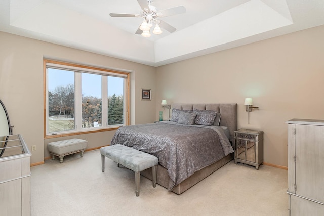
[[[264,131],[264,161],[287,166],[291,118],[324,119],[324,26],[157,68],[168,103],[237,103],[238,128]],[[189,45],[188,45],[189,46]],[[245,111],[253,98],[260,110]],[[158,114],[156,112],[156,118]]]

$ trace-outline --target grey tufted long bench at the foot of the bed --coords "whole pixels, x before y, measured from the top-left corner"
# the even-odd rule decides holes
[[[105,171],[105,156],[115,161],[118,167],[121,164],[135,172],[136,196],[140,195],[140,173],[144,169],[152,167],[153,187],[156,187],[157,157],[120,144],[102,147],[100,153],[102,172]]]

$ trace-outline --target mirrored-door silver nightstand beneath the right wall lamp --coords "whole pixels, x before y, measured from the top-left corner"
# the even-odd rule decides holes
[[[245,163],[259,169],[263,163],[263,131],[251,129],[234,131],[234,147],[235,164]]]

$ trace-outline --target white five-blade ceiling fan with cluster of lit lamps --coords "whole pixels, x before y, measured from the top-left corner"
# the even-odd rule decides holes
[[[169,25],[168,23],[159,20],[159,17],[167,17],[176,14],[182,14],[186,12],[184,6],[178,6],[174,8],[169,8],[165,10],[158,11],[154,6],[151,5],[153,0],[137,0],[138,4],[141,6],[141,14],[117,14],[110,13],[111,17],[142,17],[144,18],[142,24],[139,26],[135,34],[141,34],[143,37],[150,37],[150,28],[155,24],[155,27],[152,31],[153,34],[161,34],[161,28],[169,31],[170,33],[177,30],[175,27]]]

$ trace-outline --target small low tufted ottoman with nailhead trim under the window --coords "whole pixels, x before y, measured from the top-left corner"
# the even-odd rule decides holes
[[[60,158],[60,163],[63,163],[63,158],[66,155],[74,154],[81,152],[81,157],[83,157],[84,151],[87,149],[88,142],[82,139],[69,139],[69,140],[60,140],[56,142],[51,142],[47,144],[47,148],[52,154],[52,159],[55,159],[55,156]]]

